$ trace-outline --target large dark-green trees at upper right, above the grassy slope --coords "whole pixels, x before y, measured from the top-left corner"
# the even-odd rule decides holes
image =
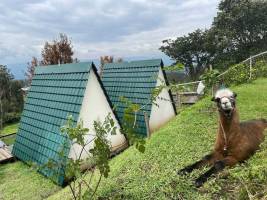
[[[222,0],[208,30],[164,40],[160,50],[198,79],[204,68],[224,69],[267,49],[267,1]]]

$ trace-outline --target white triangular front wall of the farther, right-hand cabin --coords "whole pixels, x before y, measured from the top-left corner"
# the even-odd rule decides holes
[[[166,82],[164,79],[162,69],[160,69],[156,86],[160,86],[162,84],[166,85]],[[158,106],[154,104],[152,105],[150,119],[149,119],[149,128],[150,128],[151,133],[159,129],[161,126],[167,123],[170,119],[175,117],[175,111],[174,111],[174,108],[171,102],[171,98],[166,88],[164,88],[161,91],[161,93],[159,94],[159,97],[163,98],[164,100],[157,98],[156,104]]]

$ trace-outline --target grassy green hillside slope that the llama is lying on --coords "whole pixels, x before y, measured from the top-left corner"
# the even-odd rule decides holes
[[[267,118],[267,79],[232,89],[238,94],[241,120]],[[193,180],[205,169],[176,175],[212,150],[216,130],[216,107],[205,98],[153,134],[144,154],[129,148],[112,159],[111,173],[97,192],[99,199],[267,199],[267,140],[248,162],[225,170],[200,189]],[[67,196],[65,188],[50,199]]]

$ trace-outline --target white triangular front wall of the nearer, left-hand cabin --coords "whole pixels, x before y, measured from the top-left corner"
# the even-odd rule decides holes
[[[118,127],[116,135],[108,135],[108,140],[111,141],[112,144],[112,151],[114,151],[123,147],[126,143],[126,139],[124,135],[120,133],[119,123],[114,116],[100,83],[98,82],[96,74],[93,70],[91,70],[81,106],[79,120],[83,121],[83,126],[85,128],[89,128],[90,134],[95,135],[93,126],[94,121],[99,120],[103,122],[109,113],[111,113],[111,117],[114,119],[115,126]],[[92,138],[93,136],[86,136],[85,140],[90,141]],[[88,150],[92,149],[93,146],[93,142],[90,143],[90,145],[87,145],[86,151],[88,152]],[[69,157],[73,159],[77,158],[77,155],[79,155],[81,149],[81,146],[77,144],[73,145],[70,149]],[[87,153],[84,151],[82,154],[82,159],[86,158],[87,156]]]

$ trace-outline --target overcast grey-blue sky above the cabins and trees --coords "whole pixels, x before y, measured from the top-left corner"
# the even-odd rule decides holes
[[[161,57],[161,41],[208,28],[218,0],[1,0],[0,63],[40,57],[66,33],[80,60]]]

